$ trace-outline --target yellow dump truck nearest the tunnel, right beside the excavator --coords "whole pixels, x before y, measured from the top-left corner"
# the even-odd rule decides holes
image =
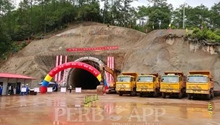
[[[136,81],[138,73],[122,73],[118,75],[116,82],[116,91],[122,96],[123,94],[136,95]]]

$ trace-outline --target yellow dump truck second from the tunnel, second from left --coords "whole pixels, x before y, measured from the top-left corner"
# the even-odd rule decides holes
[[[144,95],[159,96],[160,76],[158,73],[138,75],[136,91],[140,97]]]

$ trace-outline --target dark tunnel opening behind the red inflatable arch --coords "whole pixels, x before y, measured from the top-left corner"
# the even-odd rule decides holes
[[[87,63],[97,70],[99,69],[99,64],[97,62],[91,60],[81,61],[83,63]],[[83,70],[83,69],[71,69],[69,72],[68,83],[67,85],[71,85],[73,88],[81,87],[82,89],[96,89],[99,85],[98,79],[91,74],[90,72]]]

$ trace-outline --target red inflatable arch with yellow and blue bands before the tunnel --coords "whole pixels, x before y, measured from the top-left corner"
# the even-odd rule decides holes
[[[42,85],[40,87],[40,92],[41,93],[46,93],[47,92],[47,86],[49,85],[49,82],[53,79],[53,77],[59,73],[60,71],[64,70],[64,69],[68,69],[68,68],[80,68],[80,69],[84,69],[87,70],[88,72],[92,73],[99,82],[101,82],[101,73],[94,68],[93,66],[83,63],[83,62],[67,62],[64,63],[62,65],[59,65],[55,68],[53,68],[44,78]]]

